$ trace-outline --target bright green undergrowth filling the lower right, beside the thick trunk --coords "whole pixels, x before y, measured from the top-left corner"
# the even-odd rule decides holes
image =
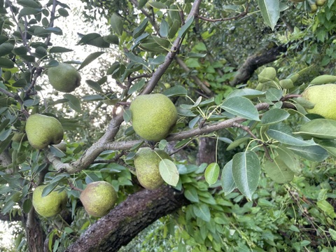
[[[261,176],[252,201],[235,191],[224,195],[189,174],[183,186],[193,192],[193,203],[120,251],[336,251],[335,173],[331,159],[302,162],[302,176],[288,184]]]

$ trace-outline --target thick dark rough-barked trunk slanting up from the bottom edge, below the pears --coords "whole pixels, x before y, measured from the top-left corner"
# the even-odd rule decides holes
[[[158,218],[186,204],[183,193],[167,186],[141,190],[94,223],[65,252],[118,251]]]

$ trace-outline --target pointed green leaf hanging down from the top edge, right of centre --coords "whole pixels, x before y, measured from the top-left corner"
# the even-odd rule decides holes
[[[265,23],[274,30],[280,17],[279,0],[258,0],[258,6]]]

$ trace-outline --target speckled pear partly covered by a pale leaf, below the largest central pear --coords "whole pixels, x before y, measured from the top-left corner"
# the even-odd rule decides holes
[[[134,167],[141,186],[148,190],[155,190],[165,182],[159,169],[160,161],[163,159],[172,160],[165,151],[160,149],[139,148],[134,157]]]

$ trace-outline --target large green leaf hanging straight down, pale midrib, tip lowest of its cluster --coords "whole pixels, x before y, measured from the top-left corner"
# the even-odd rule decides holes
[[[258,155],[253,151],[235,154],[232,158],[232,177],[239,191],[251,200],[260,178]]]

